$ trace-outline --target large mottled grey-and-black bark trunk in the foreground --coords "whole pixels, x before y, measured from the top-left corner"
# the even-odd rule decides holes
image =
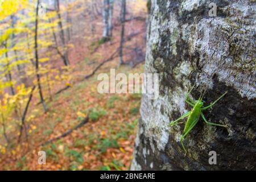
[[[256,88],[254,1],[214,1],[217,16],[209,13],[208,1],[152,0],[147,32],[145,72],[159,73],[159,97],[143,94],[141,119],[131,169],[221,170],[256,169]],[[185,94],[205,92],[212,108],[204,110],[209,126],[200,118],[184,144],[184,123],[170,122],[191,110]],[[209,164],[209,151],[217,164]]]

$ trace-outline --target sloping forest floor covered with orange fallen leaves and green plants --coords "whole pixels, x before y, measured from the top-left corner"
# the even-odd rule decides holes
[[[133,20],[126,24],[126,27],[134,27],[135,30],[140,31],[127,28],[128,51],[125,51],[125,60],[138,59],[132,52],[134,46],[140,47],[144,53],[146,32],[144,26],[141,20]],[[109,74],[110,68],[115,68],[115,74],[142,73],[143,64],[135,68],[129,65],[118,67],[118,56],[116,56],[112,61],[104,64],[95,75],[82,81],[82,78],[91,73],[102,60],[108,59],[117,50],[119,28],[120,25],[114,27],[113,34],[117,36],[114,36],[112,43],[95,46],[97,43],[93,42],[97,42],[100,36],[89,38],[86,33],[82,37],[73,38],[73,47],[69,48],[69,59],[72,64],[71,74],[74,84],[71,88],[53,96],[52,101],[47,101],[49,110],[46,114],[43,113],[42,105],[33,102],[30,117],[27,118],[28,142],[1,146],[1,170],[129,169],[141,94],[100,94],[97,92],[100,82],[97,76],[99,73]],[[53,91],[60,88],[60,85],[56,85]],[[46,90],[45,93],[47,97]],[[35,97],[38,102],[38,96]],[[77,126],[88,115],[89,122],[67,137],[42,145]],[[46,151],[46,164],[38,164],[38,151]]]

